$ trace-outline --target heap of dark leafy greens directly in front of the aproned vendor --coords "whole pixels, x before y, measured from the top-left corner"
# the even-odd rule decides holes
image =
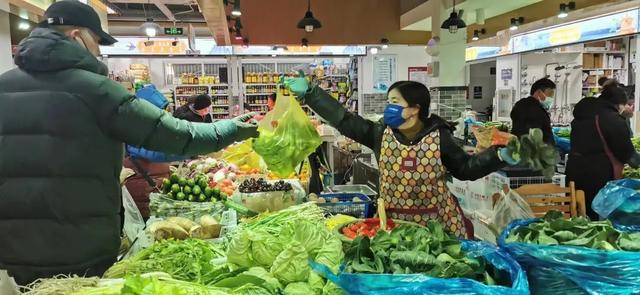
[[[445,233],[436,221],[430,221],[426,228],[402,224],[373,238],[359,236],[348,247],[345,263],[350,273],[420,273],[496,284],[485,259],[466,255],[461,242]]]

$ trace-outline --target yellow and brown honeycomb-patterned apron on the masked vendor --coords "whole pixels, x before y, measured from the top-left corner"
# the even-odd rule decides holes
[[[462,209],[445,185],[438,130],[407,146],[398,142],[387,127],[378,164],[380,196],[384,197],[388,216],[422,225],[435,219],[450,233],[468,238]]]

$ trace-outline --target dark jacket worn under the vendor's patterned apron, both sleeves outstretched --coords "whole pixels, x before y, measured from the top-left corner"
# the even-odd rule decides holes
[[[342,105],[319,87],[313,87],[302,98],[314,112],[338,129],[340,133],[373,150],[380,157],[382,135],[387,125],[383,121],[373,122],[349,113]],[[468,155],[458,146],[452,135],[452,127],[444,119],[432,115],[424,120],[423,129],[414,140],[407,139],[397,129],[393,134],[404,145],[414,145],[434,130],[440,131],[442,164],[451,175],[460,180],[476,180],[506,166],[498,158],[495,147],[474,156]]]

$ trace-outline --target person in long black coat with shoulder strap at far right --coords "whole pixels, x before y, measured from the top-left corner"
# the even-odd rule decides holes
[[[591,210],[598,191],[608,181],[622,178],[624,163],[640,165],[640,156],[621,115],[626,104],[625,91],[614,83],[605,86],[598,98],[582,99],[573,110],[567,179],[584,191],[591,219],[598,219]]]

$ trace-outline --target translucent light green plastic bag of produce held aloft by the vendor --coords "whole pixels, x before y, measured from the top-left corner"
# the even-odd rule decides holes
[[[293,96],[278,92],[276,105],[258,125],[260,136],[253,149],[262,156],[269,170],[281,177],[316,150],[322,139]]]

